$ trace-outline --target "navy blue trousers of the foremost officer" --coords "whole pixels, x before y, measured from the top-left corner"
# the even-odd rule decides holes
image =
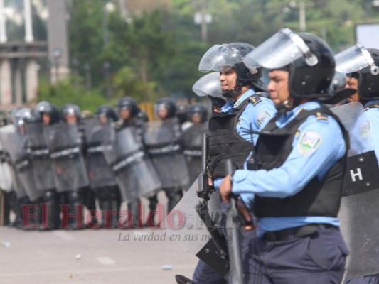
[[[348,248],[338,228],[320,225],[310,236],[265,241],[251,235],[242,246],[247,284],[340,284]]]

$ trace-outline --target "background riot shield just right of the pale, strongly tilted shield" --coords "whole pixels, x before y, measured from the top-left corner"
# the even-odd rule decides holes
[[[176,119],[152,121],[146,125],[144,143],[163,188],[186,187],[188,169],[178,143],[180,126]]]

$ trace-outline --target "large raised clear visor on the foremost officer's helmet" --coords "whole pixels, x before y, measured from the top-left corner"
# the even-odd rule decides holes
[[[277,69],[301,57],[305,58],[309,66],[317,64],[317,57],[311,53],[304,40],[289,28],[282,28],[247,54],[243,62],[250,70],[257,67]]]

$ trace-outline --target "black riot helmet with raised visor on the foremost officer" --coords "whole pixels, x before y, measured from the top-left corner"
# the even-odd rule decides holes
[[[336,64],[329,45],[316,35],[282,28],[246,55],[244,62],[250,69],[288,71],[291,101],[331,97],[329,86]]]

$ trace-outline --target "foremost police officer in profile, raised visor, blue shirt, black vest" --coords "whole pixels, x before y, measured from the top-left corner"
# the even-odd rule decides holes
[[[258,239],[242,251],[245,280],[340,283],[348,249],[337,214],[348,139],[319,102],[329,97],[334,75],[331,49],[315,35],[284,28],[244,62],[270,70],[268,90],[279,109],[260,131],[252,170],[235,170],[233,187],[230,175],[220,186],[225,202],[231,192],[254,195]]]

